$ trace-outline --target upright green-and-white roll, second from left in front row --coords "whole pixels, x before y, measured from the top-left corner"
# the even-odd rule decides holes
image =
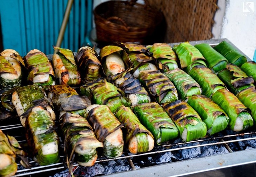
[[[59,137],[53,130],[54,121],[48,111],[35,106],[26,121],[26,138],[39,165],[59,162]]]

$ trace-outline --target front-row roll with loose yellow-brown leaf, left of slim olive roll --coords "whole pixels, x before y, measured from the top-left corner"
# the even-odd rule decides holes
[[[106,105],[93,104],[86,108],[87,120],[94,134],[103,142],[103,154],[108,158],[119,157],[123,153],[122,124]]]

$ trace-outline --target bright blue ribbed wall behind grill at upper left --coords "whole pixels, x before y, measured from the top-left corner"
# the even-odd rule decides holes
[[[52,54],[68,0],[1,0],[4,49]],[[92,29],[92,0],[74,0],[61,47],[77,51]],[[86,40],[87,39],[87,40]]]

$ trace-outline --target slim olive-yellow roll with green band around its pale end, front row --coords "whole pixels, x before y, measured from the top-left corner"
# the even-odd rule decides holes
[[[120,121],[121,124],[126,128],[126,138],[125,143],[131,142],[132,138],[136,137],[137,140],[137,151],[135,153],[143,153],[148,152],[149,150],[149,140],[147,135],[153,137],[153,135],[144,127],[139,119],[135,116],[133,111],[125,106],[120,106],[118,110],[115,112],[116,118]],[[139,137],[140,138],[139,138]],[[153,141],[154,146],[154,141]],[[129,148],[128,148],[129,149]],[[133,153],[134,149],[129,149],[130,152]]]

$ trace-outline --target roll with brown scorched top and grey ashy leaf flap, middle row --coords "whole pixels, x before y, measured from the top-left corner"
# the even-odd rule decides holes
[[[78,95],[75,89],[67,84],[48,86],[45,91],[53,102],[55,111],[78,111],[83,117],[85,109],[91,105],[88,97]]]

